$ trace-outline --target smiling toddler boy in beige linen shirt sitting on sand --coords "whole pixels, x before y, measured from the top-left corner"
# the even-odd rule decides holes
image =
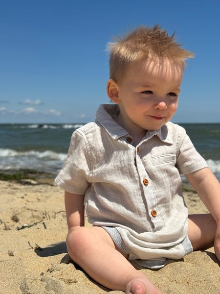
[[[130,261],[159,269],[214,242],[220,260],[220,184],[185,130],[169,122],[192,57],[157,25],[111,43],[114,104],[73,133],[56,178],[65,190],[68,253],[112,290],[161,293]],[[179,174],[211,214],[188,216]],[[92,227],[84,226],[84,208]]]

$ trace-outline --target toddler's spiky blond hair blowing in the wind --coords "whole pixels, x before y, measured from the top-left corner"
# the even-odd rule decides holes
[[[116,82],[122,78],[128,65],[138,58],[168,58],[184,69],[185,60],[194,57],[192,52],[182,49],[174,40],[174,34],[169,37],[159,25],[153,28],[139,26],[130,34],[109,43],[107,48],[110,51],[110,78]]]

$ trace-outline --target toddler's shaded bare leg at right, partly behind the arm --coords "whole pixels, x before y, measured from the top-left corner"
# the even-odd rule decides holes
[[[194,251],[214,245],[217,225],[211,214],[189,215],[188,225],[188,237]]]

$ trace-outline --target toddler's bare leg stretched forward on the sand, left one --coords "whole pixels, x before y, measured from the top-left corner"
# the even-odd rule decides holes
[[[95,281],[126,294],[160,294],[161,292],[135,270],[119,252],[110,235],[101,227],[79,227],[69,230],[66,245],[70,257]]]

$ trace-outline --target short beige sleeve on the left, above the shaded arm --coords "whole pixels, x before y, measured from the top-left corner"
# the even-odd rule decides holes
[[[71,137],[66,162],[55,182],[69,193],[85,195],[90,185],[89,166],[90,156],[86,136],[76,130]]]

